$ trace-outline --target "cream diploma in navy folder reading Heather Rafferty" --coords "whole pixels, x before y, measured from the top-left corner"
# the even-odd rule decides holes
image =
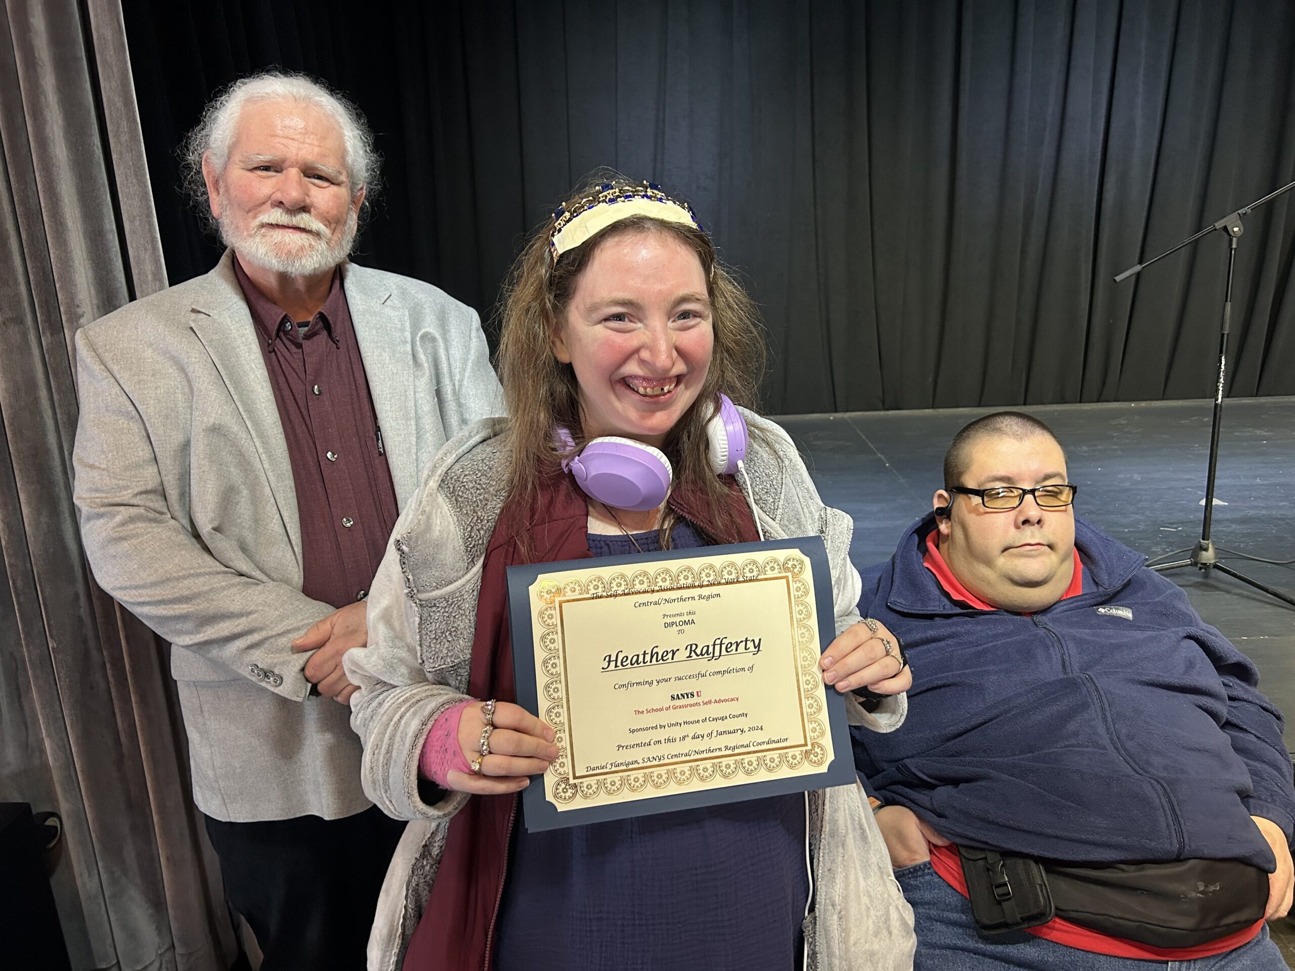
[[[817,536],[509,567],[518,703],[559,756],[531,831],[855,779]],[[543,785],[540,785],[543,783]]]

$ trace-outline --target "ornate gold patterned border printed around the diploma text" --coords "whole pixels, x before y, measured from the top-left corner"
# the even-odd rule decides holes
[[[625,570],[629,570],[627,574]],[[716,774],[723,779],[756,782],[758,777],[780,773],[785,768],[800,769],[805,763],[824,768],[828,763],[826,715],[818,691],[820,649],[813,629],[812,585],[805,576],[808,563],[798,554],[778,558],[720,559],[699,566],[685,564],[676,570],[658,566],[654,571],[614,568],[614,572],[592,572],[588,576],[570,576],[561,584],[541,577],[531,588],[532,629],[536,646],[536,680],[543,678],[539,697],[543,699],[544,720],[553,726],[559,750],[558,759],[549,765],[550,795],[559,809],[576,808],[580,801],[601,796],[619,796],[625,790],[641,794],[663,790],[671,783],[688,786],[711,782]],[[785,579],[787,584],[789,619],[794,627],[795,664],[802,709],[803,738],[799,744],[780,746],[730,759],[688,759],[660,763],[648,769],[613,769],[596,776],[576,777],[571,772],[570,711],[566,703],[566,645],[562,637],[562,607],[566,603],[602,597],[640,597],[679,589],[698,589],[723,584],[742,584]],[[664,794],[662,794],[664,795]]]

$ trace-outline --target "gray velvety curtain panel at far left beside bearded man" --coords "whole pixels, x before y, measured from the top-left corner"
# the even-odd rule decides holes
[[[227,968],[164,645],[76,532],[73,334],[166,286],[118,0],[0,0],[0,800],[63,818],[76,968]]]

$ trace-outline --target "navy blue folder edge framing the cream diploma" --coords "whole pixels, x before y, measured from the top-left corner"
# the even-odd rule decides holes
[[[628,555],[628,557],[600,557],[597,559],[579,559],[559,563],[532,563],[527,566],[513,566],[508,568],[508,601],[509,601],[509,623],[512,624],[512,640],[513,640],[513,675],[514,684],[517,685],[517,703],[526,708],[528,712],[544,717],[545,711],[552,711],[552,697],[546,699],[540,699],[536,690],[536,669],[535,669],[535,641],[532,633],[531,621],[531,601],[530,589],[536,583],[536,580],[543,574],[557,574],[572,570],[611,570],[614,567],[635,567],[641,571],[644,567],[653,571],[654,575],[660,574],[662,570],[668,571],[670,561],[675,559],[697,559],[697,558],[729,558],[733,563],[750,564],[752,562],[761,562],[760,554],[769,553],[771,550],[798,550],[802,557],[811,564],[811,572],[813,579],[813,594],[817,629],[818,629],[818,650],[822,651],[831,643],[835,637],[835,612],[833,608],[833,596],[831,596],[831,574],[828,567],[828,553],[822,544],[822,537],[808,536],[798,537],[790,540],[768,540],[763,542],[741,542],[725,546],[704,546],[699,549],[682,549],[682,550],[666,550],[660,553],[650,553],[648,555]],[[768,557],[763,561],[764,563],[777,563],[778,561],[773,557]],[[629,572],[629,571],[627,571]],[[682,575],[682,570],[680,570]],[[641,575],[641,574],[640,574]],[[716,586],[723,589],[723,580],[720,580]],[[682,584],[680,584],[682,585]],[[636,589],[635,596],[651,594],[653,589]],[[659,588],[664,594],[671,593],[675,588]],[[702,586],[701,589],[704,589]],[[787,588],[790,589],[790,586]],[[607,596],[606,592],[598,596]],[[625,596],[629,596],[628,593]],[[808,607],[808,603],[805,605]],[[809,614],[811,611],[805,611]],[[615,632],[609,632],[614,640]],[[548,636],[548,634],[546,634]],[[703,645],[703,649],[707,645]],[[549,649],[545,649],[549,650]],[[795,651],[795,646],[793,646]],[[565,647],[563,647],[565,653]],[[546,664],[550,659],[545,659]],[[804,672],[804,669],[802,668]],[[817,668],[815,668],[817,672]],[[548,676],[548,669],[545,675]],[[789,675],[790,677],[791,675]],[[804,675],[802,675],[804,676]],[[546,687],[552,687],[553,682],[546,682]],[[773,778],[773,779],[752,779],[750,782],[743,782],[741,785],[726,785],[717,788],[703,788],[695,791],[685,792],[672,792],[667,795],[651,796],[651,798],[638,798],[628,801],[605,803],[598,805],[576,807],[559,810],[557,805],[550,801],[545,795],[544,777],[534,776],[531,778],[531,785],[526,787],[522,792],[522,808],[526,829],[531,832],[540,830],[562,829],[566,826],[580,826],[592,822],[605,822],[607,820],[624,820],[635,816],[648,816],[653,813],[667,813],[677,812],[681,809],[698,809],[707,805],[720,805],[724,803],[736,803],[746,799],[764,799],[768,796],[786,795],[791,792],[802,792],[805,790],[825,788],[828,786],[847,786],[853,785],[855,766],[851,755],[850,746],[850,731],[846,724],[846,703],[840,693],[833,687],[825,690],[826,700],[826,722],[828,733],[831,738],[833,756],[826,759],[826,764],[818,766],[818,770],[800,774],[791,778]],[[820,716],[821,717],[821,716]],[[585,729],[587,730],[587,729]],[[808,738],[808,735],[807,735]],[[821,748],[821,747],[820,747]],[[742,772],[750,772],[750,759],[763,757],[751,755],[746,757],[746,765]],[[777,756],[771,756],[777,757]],[[802,756],[803,757],[803,756]],[[702,761],[719,765],[721,756],[714,756],[714,759],[707,757]],[[682,760],[676,760],[676,765]],[[694,763],[698,760],[693,760]],[[726,763],[741,763],[742,757],[724,759]],[[813,760],[809,760],[813,764]],[[787,756],[787,765],[791,764],[791,756]],[[800,763],[798,763],[798,766]],[[730,766],[721,766],[720,770],[724,772]],[[574,766],[572,766],[574,769]],[[629,791],[638,792],[644,791],[644,795],[653,791],[653,785],[644,785],[638,777],[646,777],[650,772],[659,770],[677,770],[672,769],[671,763],[663,763],[654,765],[650,769],[644,768],[642,772],[633,772],[625,776],[625,782],[622,785],[628,785]],[[624,774],[627,770],[622,770]],[[686,769],[684,772],[688,772]],[[711,777],[714,777],[714,770]],[[759,774],[759,773],[755,773]],[[572,772],[574,776],[574,772]],[[660,778],[659,774],[657,777]],[[698,770],[697,778],[701,779],[702,772]],[[729,778],[728,774],[724,778]],[[637,788],[636,788],[637,783]],[[569,791],[575,791],[576,785],[597,785],[596,782],[585,781],[580,782],[579,778],[574,781],[567,781]],[[570,799],[570,796],[569,796]],[[575,800],[571,800],[575,801]]]

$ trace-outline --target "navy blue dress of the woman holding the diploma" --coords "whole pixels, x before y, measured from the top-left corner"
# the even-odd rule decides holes
[[[660,549],[655,532],[635,540]],[[707,542],[685,522],[671,545]],[[589,552],[638,550],[627,536],[591,533]],[[548,832],[527,832],[518,816],[495,971],[798,968],[804,840],[803,795]]]

